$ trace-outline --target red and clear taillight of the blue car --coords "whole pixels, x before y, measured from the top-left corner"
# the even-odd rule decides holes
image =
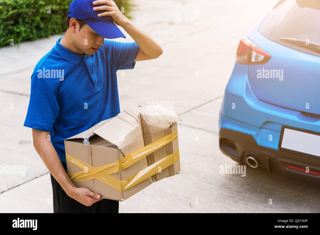
[[[240,64],[264,64],[271,55],[254,44],[247,35],[244,35],[239,43],[236,62]]]

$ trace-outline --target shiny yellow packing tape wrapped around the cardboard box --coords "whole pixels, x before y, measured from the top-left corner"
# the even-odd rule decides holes
[[[158,173],[158,169],[161,170],[169,167],[173,163],[179,160],[179,150],[174,153],[164,157],[160,161],[153,163],[152,165],[146,167],[145,169],[139,171],[138,173],[132,175],[126,180],[120,180],[116,177],[111,176],[110,174],[122,171],[132,164],[138,162],[140,159],[146,157],[150,153],[153,153],[157,149],[163,147],[167,143],[172,142],[175,138],[178,137],[178,131],[175,131],[165,137],[148,144],[145,147],[142,147],[131,154],[128,154],[114,163],[108,163],[102,166],[93,167],[88,163],[85,163],[74,156],[66,154],[66,160],[70,163],[73,163],[83,171],[77,173],[68,173],[69,178],[72,182],[81,182],[84,180],[98,179],[101,182],[119,190],[125,191],[129,188],[139,184],[143,180],[151,177],[152,175]]]

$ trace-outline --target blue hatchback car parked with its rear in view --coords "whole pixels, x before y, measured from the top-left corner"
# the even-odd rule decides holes
[[[241,38],[219,145],[252,168],[320,183],[319,0],[282,0]]]

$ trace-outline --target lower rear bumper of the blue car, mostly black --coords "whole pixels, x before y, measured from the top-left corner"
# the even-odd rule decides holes
[[[259,166],[267,171],[278,171],[289,177],[320,184],[320,157],[310,157],[302,153],[288,153],[273,146],[272,148],[261,146],[255,139],[260,135],[260,128],[238,122],[221,113],[219,123],[220,150],[233,160],[246,164],[245,158],[251,155],[257,159]],[[278,134],[280,136],[280,133]],[[277,138],[275,142],[278,143]],[[309,167],[310,172],[319,172],[319,175],[300,171],[306,167]]]

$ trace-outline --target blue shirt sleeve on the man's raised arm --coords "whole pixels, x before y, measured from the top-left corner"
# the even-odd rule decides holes
[[[105,49],[110,56],[111,63],[119,69],[133,69],[139,53],[139,46],[136,42],[116,42],[105,39]]]

